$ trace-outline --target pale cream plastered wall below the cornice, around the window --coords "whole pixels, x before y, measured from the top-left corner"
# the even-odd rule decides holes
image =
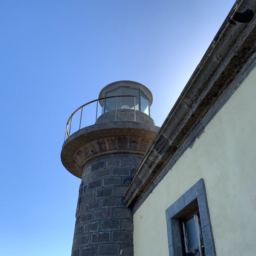
[[[134,256],[169,256],[165,210],[204,179],[218,256],[256,255],[256,69],[134,214]]]

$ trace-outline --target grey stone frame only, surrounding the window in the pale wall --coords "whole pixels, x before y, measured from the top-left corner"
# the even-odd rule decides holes
[[[183,256],[180,218],[198,208],[205,256],[216,256],[204,179],[198,180],[177,201],[166,209],[169,256]]]

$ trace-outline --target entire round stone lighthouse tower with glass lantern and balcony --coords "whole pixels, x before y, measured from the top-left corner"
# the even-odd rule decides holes
[[[95,124],[81,128],[88,104],[70,116],[61,161],[81,178],[72,256],[133,255],[133,215],[122,197],[159,129],[150,117],[152,100],[143,84],[116,81],[95,100],[97,111],[102,107]],[[76,113],[79,127],[70,134]]]

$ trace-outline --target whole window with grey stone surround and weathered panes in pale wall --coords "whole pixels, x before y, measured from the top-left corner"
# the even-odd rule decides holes
[[[215,256],[215,246],[201,179],[166,209],[169,256]]]

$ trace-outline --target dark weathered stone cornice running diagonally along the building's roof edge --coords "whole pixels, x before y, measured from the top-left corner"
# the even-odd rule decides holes
[[[256,15],[253,13],[256,13],[255,1],[236,1],[222,24],[123,197],[124,203],[134,211],[255,67]]]

